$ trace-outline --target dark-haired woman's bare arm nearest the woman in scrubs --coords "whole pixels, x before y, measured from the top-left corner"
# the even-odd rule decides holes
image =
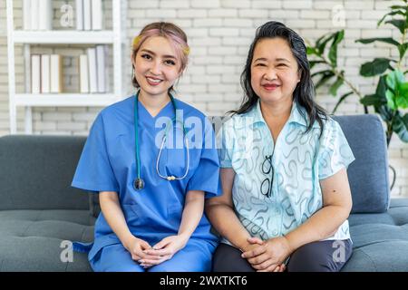
[[[234,169],[220,169],[222,192],[217,198],[209,198],[206,201],[206,213],[212,226],[222,237],[239,249],[245,251],[251,245],[248,243],[247,229],[242,226],[234,211],[232,202],[232,185],[234,183]]]

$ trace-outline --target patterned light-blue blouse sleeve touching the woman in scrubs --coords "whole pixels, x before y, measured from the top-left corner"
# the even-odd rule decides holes
[[[231,159],[231,152],[233,148],[231,133],[232,128],[230,127],[230,122],[226,121],[222,124],[219,133],[217,134],[217,148],[219,152],[219,166],[221,168],[232,168],[232,159]]]

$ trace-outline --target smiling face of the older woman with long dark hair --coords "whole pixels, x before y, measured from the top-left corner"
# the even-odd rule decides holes
[[[260,40],[251,63],[251,86],[262,102],[292,102],[300,81],[296,58],[280,37]]]

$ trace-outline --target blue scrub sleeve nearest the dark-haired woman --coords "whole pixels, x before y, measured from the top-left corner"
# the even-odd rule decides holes
[[[222,193],[219,177],[219,155],[215,146],[214,130],[205,118],[205,130],[202,141],[199,166],[189,179],[187,191],[202,190],[205,198],[213,198]]]

